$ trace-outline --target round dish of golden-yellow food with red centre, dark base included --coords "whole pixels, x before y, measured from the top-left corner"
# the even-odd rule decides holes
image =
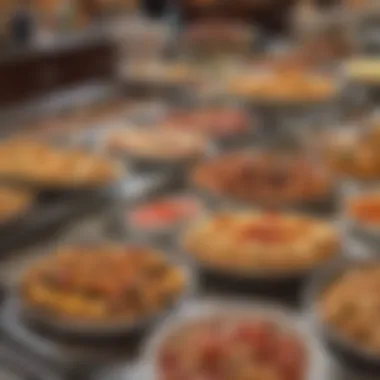
[[[216,219],[217,215],[220,216],[219,219]],[[276,224],[275,221],[277,217],[273,219],[273,222],[268,220],[266,224],[261,224],[261,220],[264,221],[264,218],[261,219],[260,215],[265,216],[266,214],[255,213],[254,215],[259,218],[252,219],[257,222],[253,225],[251,222],[246,224],[246,221],[242,219],[239,219],[240,222],[236,219],[232,219],[235,228],[231,226],[224,227],[225,231],[230,232],[230,237],[227,236],[226,232],[223,232],[222,227],[219,227],[221,229],[220,241],[218,241],[217,233],[214,231],[209,235],[208,241],[210,243],[208,243],[209,246],[207,246],[207,248],[206,246],[196,248],[197,246],[202,247],[201,244],[203,239],[206,238],[206,231],[212,231],[217,228],[220,223],[224,224],[226,220],[225,216],[228,217],[228,215],[231,215],[232,218],[234,215],[238,218],[240,218],[240,215],[242,215],[242,217],[247,216],[246,210],[244,214],[236,213],[235,210],[230,214],[224,212],[214,216],[211,215],[211,217],[208,216],[185,229],[179,241],[180,250],[183,253],[184,259],[197,270],[200,274],[200,278],[204,280],[206,284],[212,287],[215,285],[220,290],[264,293],[275,297],[278,296],[279,298],[282,298],[282,296],[295,296],[296,298],[306,280],[321,268],[335,261],[341,255],[341,242],[335,226],[330,223],[320,224],[318,219],[313,219],[316,224],[313,225],[314,231],[309,234],[309,236],[310,241],[312,241],[314,245],[311,245],[310,248],[307,249],[307,252],[313,252],[313,254],[317,256],[311,259],[310,262],[302,262],[297,258],[297,254],[294,254],[293,260],[295,261],[294,264],[291,264],[292,259],[288,258],[290,252],[285,253],[287,249],[291,248],[286,248],[285,243],[280,244],[278,241],[281,241],[284,239],[284,236],[287,236],[285,239],[288,242],[287,247],[290,247],[289,244],[294,244],[294,247],[291,249],[292,251],[295,251],[297,247],[304,249],[305,241],[302,240],[300,236],[298,236],[298,238],[295,237],[293,243],[288,240],[288,235],[292,234],[292,230],[294,232],[295,227],[290,227],[289,215],[288,218],[286,218],[287,214],[280,216],[281,224],[278,229],[272,228],[272,226]],[[269,214],[267,214],[267,217],[272,218]],[[237,225],[236,223],[240,224]],[[299,219],[297,223],[304,223],[304,219]],[[202,229],[199,230],[199,228]],[[326,236],[325,240],[315,242],[316,236],[320,239],[322,229]],[[316,230],[319,230],[318,234]],[[239,234],[242,236],[242,240],[240,240]],[[249,240],[243,240],[246,234],[248,234],[247,239]],[[280,240],[277,241],[277,239]],[[246,241],[245,245],[243,244],[244,241]],[[211,242],[214,242],[213,244],[215,245],[212,246]],[[191,246],[193,246],[193,248]],[[233,246],[235,246],[235,248],[232,248]],[[323,250],[318,248],[318,251],[314,252],[317,246],[324,246],[325,248]],[[240,249],[240,253],[238,249]],[[228,252],[230,252],[229,258],[227,257]],[[264,253],[267,257],[266,261],[262,256]],[[220,255],[223,260],[217,262],[218,255]],[[300,257],[303,256],[301,253],[299,253],[299,255]],[[321,255],[323,255],[323,257],[321,257]],[[231,262],[228,260],[231,260]],[[253,260],[256,260],[255,265],[253,265]],[[235,267],[234,262],[238,264],[235,265]],[[248,268],[249,265],[251,265],[251,267]]]

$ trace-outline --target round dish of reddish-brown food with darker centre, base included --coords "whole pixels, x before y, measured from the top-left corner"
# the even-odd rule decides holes
[[[337,194],[334,179],[323,165],[302,157],[298,153],[276,150],[233,152],[195,167],[189,182],[195,193],[214,209],[259,207],[316,213],[331,211]],[[301,186],[301,171],[309,175],[307,195],[304,179]],[[297,186],[292,188],[294,184]]]

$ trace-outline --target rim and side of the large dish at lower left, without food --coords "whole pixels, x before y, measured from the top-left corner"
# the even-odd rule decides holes
[[[91,247],[99,248],[99,244],[101,243],[95,245],[94,242],[91,242],[87,243],[87,245],[82,243],[81,245],[78,244],[77,246],[72,247],[76,247],[77,249],[80,247],[80,249],[91,251]],[[122,247],[120,244],[115,245],[114,243],[109,242],[103,242],[103,245],[104,244],[107,244],[107,246],[114,248]],[[148,251],[151,253],[156,252],[149,249]],[[57,252],[60,252],[59,249]],[[123,318],[122,316],[115,316],[112,318],[104,317],[103,320],[91,319],[90,317],[86,318],[85,316],[79,317],[70,314],[68,314],[67,316],[59,315],[57,314],[58,311],[53,312],[52,310],[45,309],[44,306],[36,306],[32,305],[31,303],[27,303],[23,299],[24,291],[21,287],[19,287],[19,289],[14,290],[10,294],[10,296],[8,297],[8,302],[10,302],[13,305],[13,308],[16,307],[18,310],[20,310],[20,315],[24,323],[27,323],[31,327],[42,329],[53,334],[63,336],[67,335],[74,338],[84,339],[117,338],[120,336],[132,337],[136,335],[141,335],[144,332],[146,332],[149,328],[154,326],[156,323],[167,317],[173,310],[179,308],[182,305],[182,303],[194,291],[195,287],[195,282],[192,273],[189,271],[187,267],[178,264],[174,260],[174,258],[164,258],[164,256],[162,256],[161,254],[158,257],[163,258],[165,263],[170,265],[172,268],[175,267],[178,271],[180,271],[181,276],[183,275],[184,280],[184,285],[180,291],[180,294],[176,296],[176,298],[173,299],[172,302],[168,303],[167,305],[164,305],[164,307],[160,308],[160,310],[158,311],[149,311],[145,314],[143,313],[140,316],[137,314],[134,317],[128,318]],[[30,273],[31,272],[29,272],[29,275]],[[72,307],[74,306],[75,305],[72,305]]]

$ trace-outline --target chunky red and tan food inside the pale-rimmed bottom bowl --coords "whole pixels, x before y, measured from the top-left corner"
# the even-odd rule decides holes
[[[159,380],[304,380],[308,352],[297,333],[262,316],[211,316],[172,332],[157,368]]]

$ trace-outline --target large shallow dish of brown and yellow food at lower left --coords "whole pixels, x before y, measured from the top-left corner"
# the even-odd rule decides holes
[[[128,246],[111,245],[110,243],[108,244],[109,245],[107,246],[104,246],[103,244],[104,253],[100,254],[95,252],[96,249],[98,249],[98,252],[100,252],[99,245],[96,246],[93,243],[89,243],[87,246],[84,244],[82,244],[81,246],[78,245],[76,246],[76,248],[73,246],[71,250],[67,247],[66,249],[61,248],[61,250],[58,250],[56,253],[60,255],[60,258],[47,258],[40,264],[37,264],[38,266],[35,266],[31,270],[29,270],[26,274],[27,277],[25,277],[25,279],[21,283],[19,290],[16,294],[12,296],[12,298],[15,300],[13,302],[18,302],[20,305],[21,315],[24,321],[31,325],[35,325],[36,327],[41,327],[43,329],[58,334],[67,334],[69,336],[92,336],[101,338],[113,337],[117,335],[135,335],[136,333],[146,331],[147,328],[151,327],[159,320],[164,318],[166,315],[168,315],[173,309],[178,307],[182,303],[182,301],[186,299],[187,295],[191,292],[193,287],[193,281],[190,272],[185,267],[174,264],[174,261],[169,261],[167,258],[164,258],[164,256],[161,256],[160,254],[157,256],[155,253],[156,251],[153,250],[144,250],[143,248],[133,248],[129,246],[129,251],[125,251],[128,248]],[[77,260],[77,264],[75,264],[75,260],[73,260],[74,248],[76,249],[76,251],[78,251],[78,249],[81,249],[82,252],[77,252],[77,255],[81,258],[81,260],[75,259]],[[131,256],[131,249],[135,249],[132,254],[136,254],[136,256]],[[138,252],[136,249],[138,250]],[[147,256],[143,252],[143,250],[144,252],[150,252],[148,253],[150,256]],[[140,251],[141,253],[139,253]],[[91,255],[92,257],[87,256],[86,258],[84,255]],[[97,257],[96,261],[93,259],[94,255]],[[121,255],[130,255],[130,257],[125,257],[123,259]],[[119,273],[119,276],[117,276],[117,273],[115,272],[112,273],[111,276],[108,275],[108,277],[106,278],[104,276],[105,274],[107,274],[107,270],[109,269],[104,268],[110,266],[112,260],[120,261],[121,259],[124,260],[124,263],[125,259],[129,259],[129,266],[131,266],[132,258],[134,258],[134,262],[139,263],[142,262],[141,260],[143,260],[142,258],[144,258],[144,256],[146,265],[148,265],[149,261],[153,260],[154,258],[154,260],[158,260],[157,263],[165,263],[165,267],[167,266],[167,268],[170,268],[170,270],[172,271],[170,272],[170,275],[173,275],[174,278],[170,280],[170,283],[167,283],[168,288],[164,289],[171,289],[170,286],[175,286],[175,284],[179,281],[176,280],[176,276],[180,276],[181,279],[181,281],[179,281],[180,285],[178,285],[179,288],[175,288],[175,290],[173,290],[173,294],[169,292],[169,302],[168,300],[160,298],[160,294],[156,292],[157,287],[154,288],[154,291],[152,290],[153,288],[151,288],[151,290],[149,290],[149,288],[145,288],[145,290],[143,290],[142,287],[136,287],[136,290],[134,291],[136,292],[137,298],[136,301],[133,302],[137,302],[137,306],[132,306],[133,298],[128,298],[132,302],[131,306],[127,306],[126,304],[126,306],[124,306],[125,309],[121,311],[119,298],[119,301],[115,303],[114,306],[112,306],[112,294],[117,292],[117,286],[119,286],[120,291],[121,289],[123,289],[124,285],[122,285],[122,282],[120,281],[124,281],[127,284],[128,278],[133,279],[136,276],[127,276],[127,274],[131,272],[131,270],[124,269],[123,273]],[[49,269],[48,266],[54,265],[54,262],[58,263],[58,260],[61,261],[61,265],[59,267],[53,266]],[[70,260],[70,262],[72,261],[76,267],[75,271],[74,269],[72,270],[72,273],[67,271],[67,266],[71,265],[69,264],[68,260]],[[84,266],[80,264],[81,261],[82,264],[84,263]],[[114,261],[114,263],[116,261]],[[65,262],[66,264],[64,265]],[[86,262],[88,265],[86,264]],[[96,269],[96,263],[99,264],[100,262],[103,263],[101,265],[102,268],[98,267],[98,269]],[[91,269],[89,267],[89,263],[93,263],[92,265],[95,265],[95,267]],[[121,265],[122,264],[117,264],[119,270],[121,270]],[[153,263],[151,262],[149,265],[151,265],[151,270],[153,270]],[[80,271],[84,270],[86,267],[88,270],[97,270],[99,272],[98,275],[91,275],[91,277],[88,277],[88,280],[86,280],[86,277],[84,275],[77,275],[77,277],[75,277],[75,273],[80,273]],[[146,270],[147,268],[148,266],[146,267]],[[142,269],[143,268],[141,267],[141,273]],[[126,274],[125,277],[123,277],[124,280],[122,280],[120,275],[124,274],[124,272]],[[119,280],[117,281],[116,278],[119,278]],[[94,281],[94,279],[97,280]],[[48,281],[46,282],[47,285],[44,285],[44,281]],[[165,283],[165,281],[160,281],[160,284],[164,286],[163,284]],[[96,285],[95,282],[97,282],[98,285]],[[119,284],[117,282],[119,282]],[[75,285],[76,283],[77,285]],[[131,284],[133,285],[133,283]],[[95,293],[95,285],[99,289],[97,290],[97,293]],[[60,287],[57,286],[63,286],[62,289],[65,289],[65,287],[68,287],[67,289],[72,288],[72,292],[71,294],[68,291],[60,293],[62,291],[60,291]],[[128,284],[125,286],[125,289],[132,289]],[[87,291],[85,291],[86,288]],[[90,293],[91,289],[92,293]],[[53,296],[54,293],[56,294],[56,296]],[[137,301],[141,298],[140,293],[150,293],[149,297],[151,297],[150,304],[144,304],[144,307],[141,306],[141,310],[139,309]],[[96,294],[98,294],[98,298],[95,297]],[[164,294],[166,293],[161,293],[161,296],[163,297]],[[174,296],[173,299],[171,299],[172,296]],[[59,297],[60,300],[58,300]],[[149,297],[147,295],[143,296],[144,299],[149,299]],[[162,303],[162,305],[159,305],[158,303]],[[115,311],[112,311],[114,310],[113,308],[116,308]]]

